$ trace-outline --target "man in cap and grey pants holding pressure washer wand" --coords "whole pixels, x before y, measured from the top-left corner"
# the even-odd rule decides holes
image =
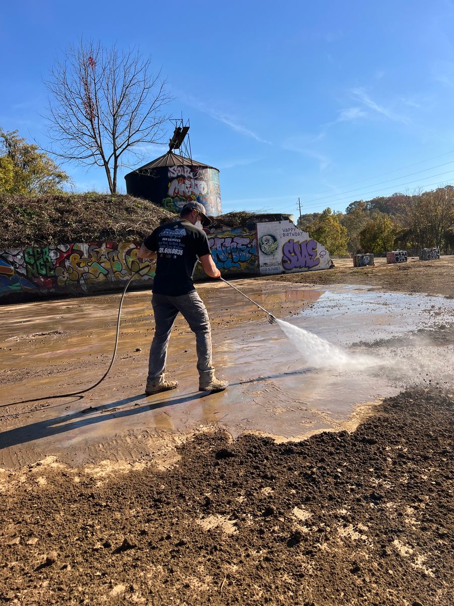
[[[194,288],[192,273],[200,260],[210,278],[220,278],[220,271],[211,258],[208,239],[202,225],[211,224],[200,202],[188,202],[180,220],[157,227],[145,238],[139,258],[156,258],[156,276],[151,305],[154,311],[154,337],[150,348],[148,379],[145,393],[175,389],[177,381],[165,380],[167,346],[172,326],[180,312],[196,334],[197,370],[200,391],[222,391],[228,382],[214,376],[211,361],[211,326],[208,313]]]

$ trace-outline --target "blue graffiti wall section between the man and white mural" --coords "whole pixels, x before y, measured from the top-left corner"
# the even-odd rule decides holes
[[[211,256],[218,269],[257,269],[257,240],[252,233],[235,235],[224,231],[208,237]]]

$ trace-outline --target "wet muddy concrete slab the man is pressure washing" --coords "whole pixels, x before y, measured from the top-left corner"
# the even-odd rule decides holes
[[[257,279],[234,284],[278,318],[346,350],[349,363],[337,364],[334,356],[314,366],[310,347],[302,354],[278,324],[269,324],[239,293],[211,283],[199,292],[212,321],[217,374],[229,381],[228,390],[212,395],[197,390],[194,336],[178,319],[168,376],[179,387],[145,396],[153,313],[150,293],[135,292],[123,304],[110,375],[83,399],[52,399],[103,375],[113,350],[119,295],[4,307],[0,467],[20,467],[45,454],[71,464],[137,460],[169,436],[209,425],[234,437],[253,431],[303,438],[354,428],[370,402],[408,385],[452,384],[453,345],[432,339],[453,322],[452,299]],[[415,334],[416,341],[406,342]],[[13,404],[41,396],[48,398]]]

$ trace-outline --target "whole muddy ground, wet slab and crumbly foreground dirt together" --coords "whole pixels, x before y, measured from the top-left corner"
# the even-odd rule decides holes
[[[105,371],[119,297],[2,309],[0,602],[450,606],[453,267],[429,262],[393,291],[235,281],[277,317],[390,361],[377,373],[290,362],[276,325],[202,285],[232,383],[212,396],[196,391],[183,322],[179,393],[143,395],[147,293],[128,296],[118,361],[84,399],[50,396]]]

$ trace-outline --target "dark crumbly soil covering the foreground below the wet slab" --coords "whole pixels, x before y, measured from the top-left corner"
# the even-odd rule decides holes
[[[0,601],[449,606],[453,429],[453,395],[418,390],[353,434],[201,434],[176,467],[104,484],[22,470]]]

